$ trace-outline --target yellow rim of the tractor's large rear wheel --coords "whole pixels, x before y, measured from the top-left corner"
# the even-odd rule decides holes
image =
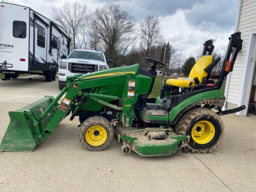
[[[209,143],[215,134],[215,128],[209,121],[197,122],[191,131],[193,140],[198,144]]]

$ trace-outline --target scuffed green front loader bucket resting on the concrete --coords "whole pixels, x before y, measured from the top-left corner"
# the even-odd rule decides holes
[[[54,106],[49,111],[51,115],[41,121],[40,128],[33,120],[38,120],[53,100],[53,97],[45,96],[26,107],[10,111],[11,121],[0,144],[0,151],[28,152],[41,143],[44,138],[40,130],[48,125],[56,107]]]

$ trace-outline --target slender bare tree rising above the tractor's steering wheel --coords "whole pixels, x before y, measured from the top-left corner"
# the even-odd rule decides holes
[[[158,14],[153,13],[148,15],[141,21],[139,36],[141,39],[140,47],[143,49],[143,56],[151,56],[152,45],[159,44],[162,38]]]

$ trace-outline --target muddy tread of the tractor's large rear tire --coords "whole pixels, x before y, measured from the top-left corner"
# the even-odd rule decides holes
[[[185,113],[182,114],[182,116],[180,116],[180,118],[178,119],[176,126],[175,126],[175,133],[176,134],[186,134],[186,128],[189,125],[189,122],[194,119],[196,116],[201,115],[201,114],[208,114],[213,116],[215,119],[218,119],[218,121],[221,124],[221,135],[218,138],[218,141],[211,147],[211,148],[207,148],[204,150],[201,149],[194,149],[189,145],[189,148],[192,152],[196,152],[198,154],[200,153],[207,153],[207,152],[211,152],[212,149],[217,148],[218,144],[221,142],[221,139],[224,135],[224,124],[222,119],[212,110],[208,109],[208,108],[203,108],[200,106],[194,107],[189,109],[188,111],[186,111]]]

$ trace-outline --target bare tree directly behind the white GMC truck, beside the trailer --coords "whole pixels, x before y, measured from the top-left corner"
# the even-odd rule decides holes
[[[61,26],[73,39],[73,48],[76,48],[76,36],[79,28],[84,25],[87,17],[86,5],[78,2],[65,1],[61,7],[53,7],[50,11],[53,20]]]

